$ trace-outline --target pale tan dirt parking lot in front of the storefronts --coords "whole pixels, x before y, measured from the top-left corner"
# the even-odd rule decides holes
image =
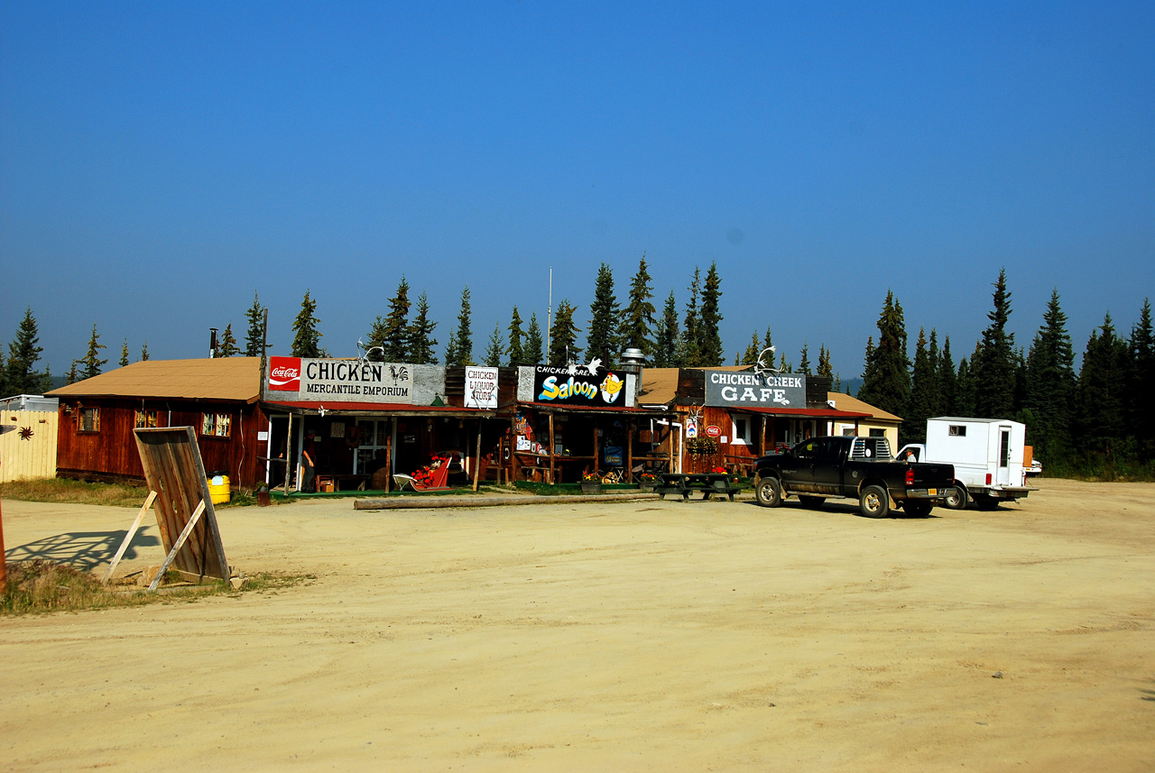
[[[232,565],[316,579],[0,618],[0,767],[1155,770],[1155,486],[1040,485],[882,521],[224,510]],[[102,569],[134,516],[6,501],[8,557]]]

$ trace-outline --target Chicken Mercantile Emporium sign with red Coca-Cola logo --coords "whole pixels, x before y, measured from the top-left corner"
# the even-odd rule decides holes
[[[268,391],[273,399],[411,404],[413,376],[403,362],[270,357]]]

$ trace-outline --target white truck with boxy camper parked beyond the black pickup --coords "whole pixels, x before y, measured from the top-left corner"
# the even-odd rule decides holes
[[[970,501],[990,509],[1038,490],[1027,486],[1026,442],[1027,427],[1018,421],[938,416],[926,420],[926,443],[902,446],[899,459],[910,450],[914,461],[954,465],[959,496],[947,506],[961,510]]]

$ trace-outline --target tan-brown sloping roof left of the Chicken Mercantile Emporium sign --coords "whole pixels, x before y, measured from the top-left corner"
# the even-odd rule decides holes
[[[47,397],[132,397],[255,403],[261,358],[144,360],[47,392]]]

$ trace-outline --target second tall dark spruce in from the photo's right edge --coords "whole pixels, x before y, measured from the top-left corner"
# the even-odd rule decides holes
[[[1130,366],[1127,344],[1115,332],[1111,315],[1091,331],[1079,370],[1078,441],[1091,456],[1102,456],[1108,474],[1119,460],[1119,442],[1126,436],[1124,391]]]

